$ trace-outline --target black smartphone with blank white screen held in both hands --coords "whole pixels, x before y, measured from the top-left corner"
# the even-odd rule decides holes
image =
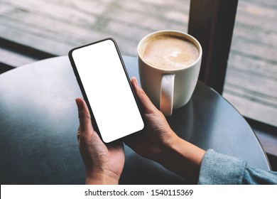
[[[109,143],[144,128],[139,103],[114,39],[73,48],[69,58],[102,141]]]

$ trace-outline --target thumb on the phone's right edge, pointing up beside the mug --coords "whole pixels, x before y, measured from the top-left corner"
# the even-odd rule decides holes
[[[136,77],[131,78],[131,85],[134,87],[134,90],[136,92],[136,97],[139,98],[139,101],[141,102],[142,108],[148,112],[155,112],[158,110],[155,105],[151,102],[151,100],[148,98],[144,90],[139,85],[138,80],[136,80]]]

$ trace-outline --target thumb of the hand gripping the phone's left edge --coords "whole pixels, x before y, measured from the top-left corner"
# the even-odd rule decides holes
[[[80,132],[89,132],[94,131],[92,127],[92,121],[89,114],[89,109],[87,108],[87,104],[84,99],[77,98],[75,99],[77,107],[78,107],[78,114],[79,114],[79,122],[80,122]]]

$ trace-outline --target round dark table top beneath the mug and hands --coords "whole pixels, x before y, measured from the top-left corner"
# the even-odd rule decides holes
[[[137,60],[124,56],[129,76]],[[104,77],[103,77],[104,78]],[[77,146],[82,97],[67,56],[41,60],[0,75],[0,183],[82,184],[85,167]],[[190,102],[168,117],[178,136],[202,149],[244,158],[270,170],[249,124],[222,96],[197,82]],[[125,146],[122,184],[185,184],[180,176]]]

